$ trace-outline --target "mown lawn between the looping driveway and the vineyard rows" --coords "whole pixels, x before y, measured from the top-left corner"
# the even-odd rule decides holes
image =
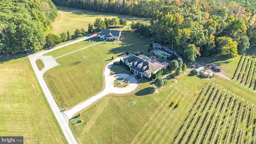
[[[70,121],[70,128],[79,143],[172,143],[209,80],[211,84],[215,82],[223,86],[223,89],[232,90],[232,93],[236,93],[236,98],[239,95],[241,99],[250,100],[250,108],[256,103],[254,92],[232,81],[188,74],[189,70],[179,78],[169,79],[168,84],[154,93],[154,85],[142,79],[139,89],[133,94],[110,95],[83,110],[80,117]],[[175,99],[182,101],[182,106],[169,108]],[[130,106],[130,102],[136,104]],[[84,120],[84,123],[74,124],[78,119]]]

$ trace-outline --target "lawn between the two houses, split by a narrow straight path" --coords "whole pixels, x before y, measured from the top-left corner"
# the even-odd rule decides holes
[[[122,42],[125,45],[120,45],[120,41],[114,41],[115,44],[110,41],[96,44],[99,40],[94,39],[94,42],[91,43],[82,41],[45,54],[56,58],[74,50],[96,44],[57,58],[56,60],[60,66],[54,67],[44,74],[44,80],[60,108],[71,108],[100,92],[103,86],[103,67],[110,62],[112,56],[117,58],[126,54],[126,51],[130,53],[139,51],[139,53],[150,54],[146,52],[150,44],[146,38],[141,38],[138,34],[127,31],[124,32],[123,37],[124,40]],[[87,57],[86,61],[84,56]]]

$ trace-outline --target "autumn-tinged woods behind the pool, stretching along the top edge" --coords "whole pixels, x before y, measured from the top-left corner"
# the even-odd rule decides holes
[[[255,0],[53,0],[56,5],[150,17],[131,29],[187,56],[237,56],[256,45]],[[195,56],[196,57],[196,56]],[[194,60],[194,58],[190,58]]]

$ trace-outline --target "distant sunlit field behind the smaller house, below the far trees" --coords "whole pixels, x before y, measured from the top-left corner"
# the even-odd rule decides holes
[[[136,16],[127,16],[121,14],[111,14],[105,12],[96,12],[90,10],[81,10],[77,8],[69,8],[64,6],[57,6],[58,8],[58,16],[54,22],[52,22],[52,30],[50,33],[60,34],[61,32],[69,31],[70,34],[74,34],[74,31],[77,28],[84,28],[84,30],[88,31],[88,24],[94,24],[94,21],[97,17],[102,18],[125,18],[127,20],[127,24],[131,24],[132,21],[145,21],[149,22],[150,18],[136,17]],[[129,26],[125,26],[120,30],[127,30]]]

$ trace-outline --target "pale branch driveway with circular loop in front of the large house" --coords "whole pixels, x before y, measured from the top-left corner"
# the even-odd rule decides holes
[[[130,76],[128,74],[114,74],[114,75],[110,74],[110,69],[113,66],[113,62],[116,61],[116,60],[120,60],[120,58],[122,58],[124,56],[116,58],[115,60],[108,63],[104,67],[104,71],[103,71],[103,75],[105,77],[105,88],[104,88],[104,90],[102,92],[100,92],[99,94],[97,94],[96,96],[93,96],[92,98],[89,98],[88,100],[85,100],[84,102],[81,102],[80,104],[77,104],[72,109],[65,111],[64,113],[68,116],[68,118],[72,118],[72,116],[74,116],[74,114],[76,114],[77,112],[79,112],[79,111],[83,110],[84,108],[90,106],[91,104],[93,104],[94,102],[96,102],[100,98],[103,98],[107,94],[127,94],[129,92],[134,91],[137,88],[138,82],[135,78],[131,78],[129,80],[130,83],[128,84],[128,86],[126,86],[124,88],[118,88],[118,87],[114,86],[114,80],[115,79],[117,79],[117,78],[127,78],[128,76]]]

